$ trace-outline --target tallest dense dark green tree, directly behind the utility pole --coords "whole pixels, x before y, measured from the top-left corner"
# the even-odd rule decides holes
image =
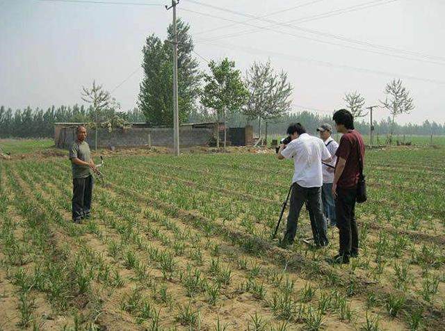
[[[202,79],[199,63],[191,55],[194,45],[189,29],[188,24],[177,19],[179,122],[186,122],[195,106]],[[147,123],[153,126],[173,124],[173,40],[170,24],[167,40],[150,35],[143,47],[144,78],[140,83],[138,106]]]

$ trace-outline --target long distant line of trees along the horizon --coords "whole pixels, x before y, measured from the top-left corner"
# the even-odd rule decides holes
[[[128,112],[118,113],[129,122],[145,122],[144,115],[137,108]],[[56,122],[92,122],[94,112],[91,107],[85,106],[52,106],[46,110],[41,108],[25,108],[13,111],[0,106],[0,138],[49,138],[54,136],[54,123]],[[210,122],[215,118],[205,111],[192,111],[188,122]],[[332,116],[318,115],[308,111],[285,115],[278,121],[270,121],[267,124],[268,134],[285,134],[287,126],[291,122],[301,122],[307,131],[314,133],[321,123],[332,123]],[[258,121],[248,120],[243,115],[232,115],[227,119],[229,127],[244,127],[251,124],[254,131],[258,132]],[[386,135],[390,132],[391,119],[374,122],[375,134]],[[363,133],[369,132],[369,123],[364,120],[356,121],[356,129]],[[261,124],[261,132],[264,135],[266,123]],[[445,135],[445,123],[437,124],[426,120],[423,124],[395,124],[394,134],[406,135]]]

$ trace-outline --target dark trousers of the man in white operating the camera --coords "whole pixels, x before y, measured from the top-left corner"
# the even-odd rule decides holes
[[[298,217],[300,211],[307,202],[309,209],[313,213],[312,234],[316,245],[327,245],[326,219],[323,215],[323,203],[321,202],[321,187],[302,187],[293,184],[291,192],[291,206],[287,216],[287,228],[284,234],[284,241],[293,242],[297,232]]]

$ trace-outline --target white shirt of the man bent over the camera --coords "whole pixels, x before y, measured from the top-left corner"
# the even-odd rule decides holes
[[[281,154],[286,159],[293,158],[295,170],[292,183],[303,187],[321,187],[323,185],[321,160],[329,159],[331,156],[323,140],[309,136],[309,134],[301,134],[292,140]]]

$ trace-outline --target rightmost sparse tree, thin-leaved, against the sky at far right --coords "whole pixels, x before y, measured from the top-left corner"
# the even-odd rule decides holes
[[[391,131],[389,138],[392,139],[394,133],[394,120],[401,114],[409,114],[414,109],[414,103],[410,92],[402,86],[401,79],[390,81],[385,92],[387,97],[384,102],[380,101],[383,108],[387,108],[391,114]]]

